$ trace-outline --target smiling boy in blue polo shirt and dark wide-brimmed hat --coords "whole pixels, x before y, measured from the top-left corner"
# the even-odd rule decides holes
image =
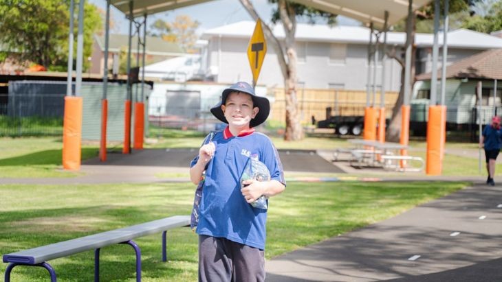
[[[205,172],[199,204],[199,281],[264,281],[267,210],[251,202],[285,189],[283,167],[272,141],[254,127],[270,113],[265,97],[250,84],[237,82],[221,93],[212,115],[228,124],[202,145],[190,164],[196,185]],[[250,157],[270,171],[270,181],[240,179]]]

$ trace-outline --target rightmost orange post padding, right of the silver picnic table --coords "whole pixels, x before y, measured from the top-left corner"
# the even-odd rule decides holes
[[[446,106],[429,106],[426,174],[441,175],[446,141]]]

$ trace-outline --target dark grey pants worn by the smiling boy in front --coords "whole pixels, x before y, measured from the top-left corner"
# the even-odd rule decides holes
[[[263,282],[265,252],[226,238],[199,235],[200,282]]]

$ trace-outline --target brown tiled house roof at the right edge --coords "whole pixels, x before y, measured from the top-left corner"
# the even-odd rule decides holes
[[[417,75],[417,80],[430,80],[432,72]],[[437,69],[441,78],[441,69]],[[502,80],[502,49],[490,49],[459,60],[446,67],[446,78]]]

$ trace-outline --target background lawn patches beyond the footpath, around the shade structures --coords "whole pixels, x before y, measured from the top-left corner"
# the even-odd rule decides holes
[[[204,134],[193,130],[174,130],[152,128],[151,136],[146,139],[144,148],[199,148]],[[345,139],[332,137],[307,137],[302,141],[286,142],[281,137],[271,137],[278,149],[300,150],[333,150],[347,148],[351,144]],[[426,158],[424,141],[411,141],[408,154]],[[447,148],[476,149],[477,144],[448,142]],[[58,137],[28,137],[28,138],[0,138],[0,178],[12,177],[74,177],[79,172],[67,172],[61,169],[61,152],[63,144]],[[109,150],[122,150],[119,145]],[[82,159],[98,156],[98,145],[84,143]],[[502,171],[502,164],[497,165],[496,171]],[[479,176],[476,158],[446,154],[443,163],[444,176]],[[485,175],[484,163],[481,175]],[[160,178],[186,177],[186,174],[160,174]]]

